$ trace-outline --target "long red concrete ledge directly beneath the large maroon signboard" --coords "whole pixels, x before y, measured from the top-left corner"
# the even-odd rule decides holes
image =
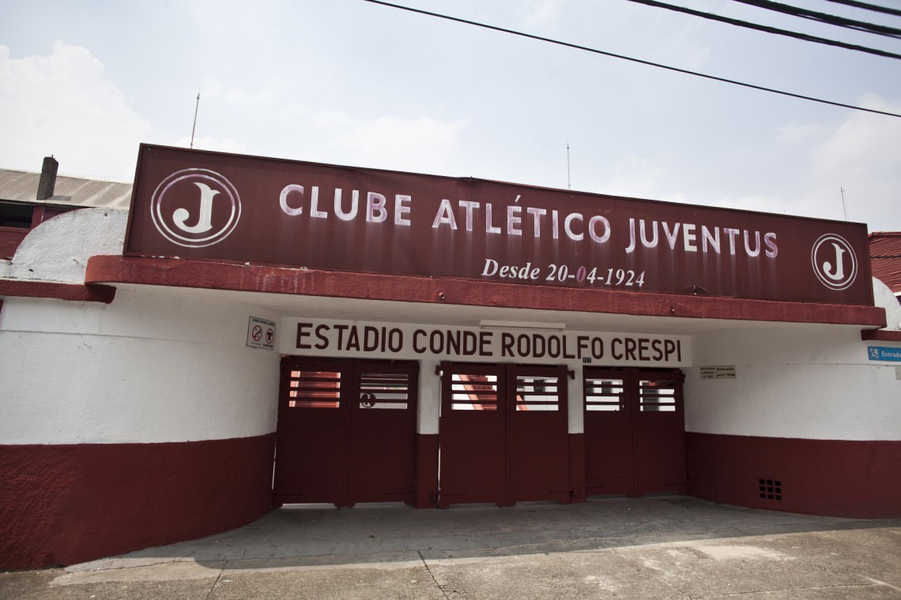
[[[501,306],[694,319],[886,326],[885,311],[877,306],[526,286],[468,279],[346,273],[201,260],[94,256],[88,260],[85,279],[87,284],[196,287],[436,305]]]

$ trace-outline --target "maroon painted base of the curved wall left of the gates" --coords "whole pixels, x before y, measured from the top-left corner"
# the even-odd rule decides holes
[[[0,446],[0,569],[191,540],[271,506],[275,433],[153,444]]]

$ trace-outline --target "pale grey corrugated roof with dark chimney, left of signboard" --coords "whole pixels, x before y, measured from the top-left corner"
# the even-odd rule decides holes
[[[0,200],[42,205],[108,206],[128,208],[132,202],[132,184],[86,177],[58,175],[53,195],[38,200],[41,173],[0,168]]]

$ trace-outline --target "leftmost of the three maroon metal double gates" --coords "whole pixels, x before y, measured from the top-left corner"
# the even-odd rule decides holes
[[[276,505],[412,504],[419,365],[282,360]]]

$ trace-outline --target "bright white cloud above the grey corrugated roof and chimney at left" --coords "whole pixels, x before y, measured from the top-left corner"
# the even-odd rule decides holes
[[[0,46],[0,89],[0,165],[39,170],[53,154],[60,173],[134,173],[150,123],[132,111],[90,50],[57,41],[50,56],[13,59]]]

